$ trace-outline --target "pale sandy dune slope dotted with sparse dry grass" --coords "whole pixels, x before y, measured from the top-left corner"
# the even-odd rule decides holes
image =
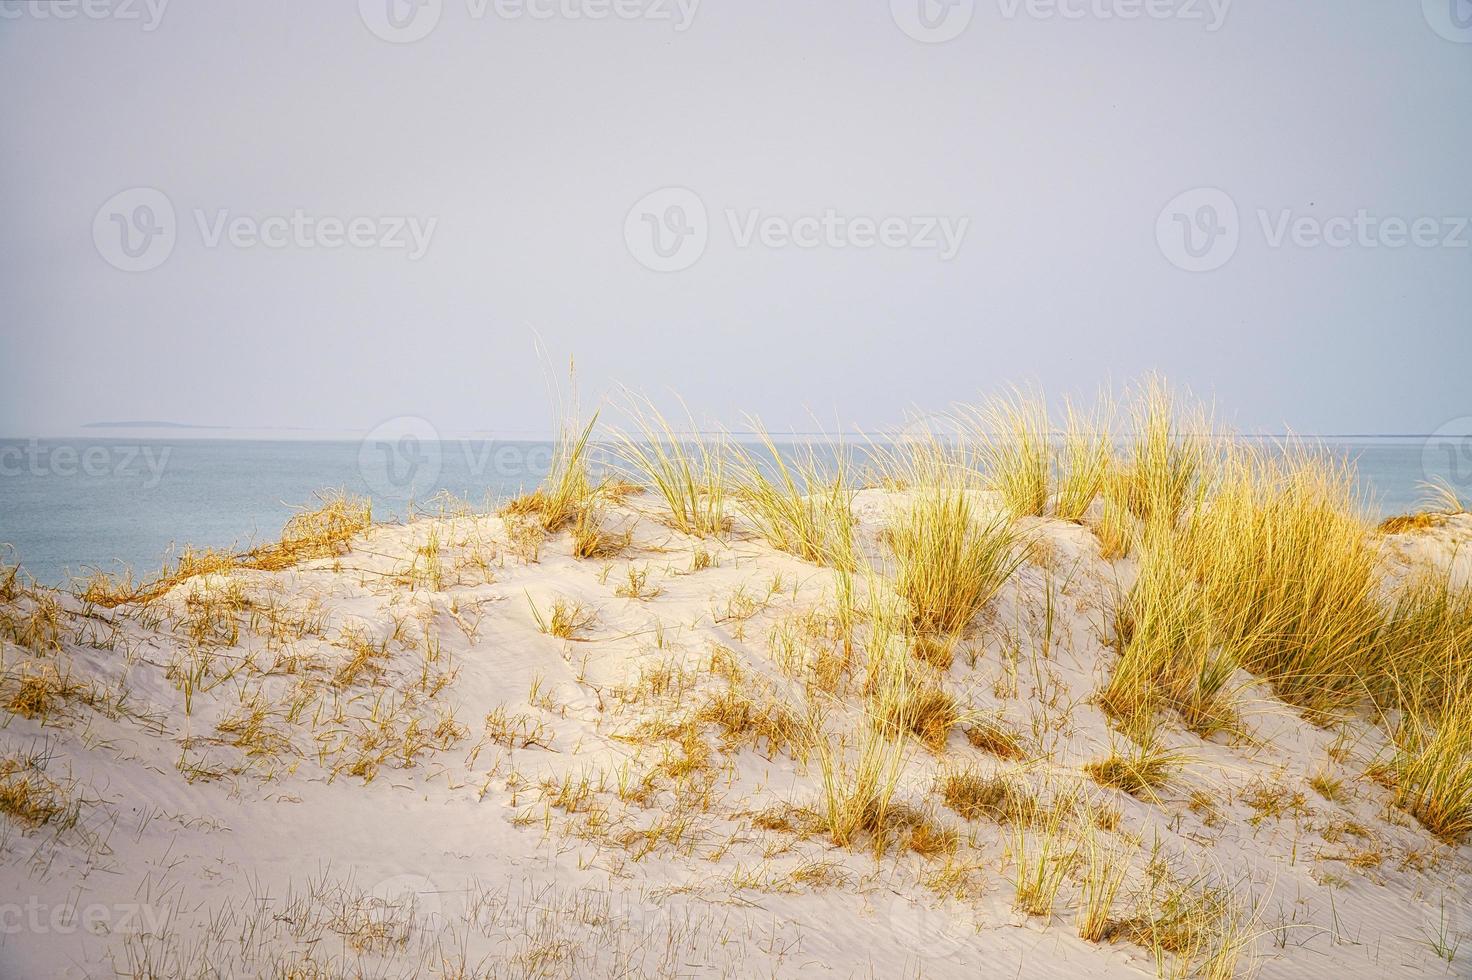
[[[855,502],[874,553],[892,506],[873,490]],[[960,728],[944,755],[913,748],[898,798],[963,846],[876,859],[801,820],[762,828],[818,805],[811,755],[724,746],[714,724],[701,746],[657,730],[733,671],[805,714],[823,645],[810,614],[832,605],[832,572],[740,528],[686,539],[646,497],[612,519],[633,544],[606,561],[571,558],[567,534],[524,561],[500,518],[459,515],[380,525],[339,559],[228,577],[238,586],[190,581],[146,611],[62,597],[63,649],[6,643],[6,684],[63,667],[93,705],[46,724],[7,715],[0,748],[44,750],[79,818],[3,824],[0,974],[1154,976],[1141,948],[1076,937],[1073,883],[1050,921],[1016,912],[1008,831],[935,793],[945,767],[1064,786],[1107,753],[1089,696],[1113,662],[1100,633],[1128,561],[1101,561],[1083,527],[1032,522],[1045,546],[945,678],[1001,712],[1030,758],[994,758]],[[1463,516],[1394,546],[1446,561],[1468,539]],[[630,568],[658,594],[617,594]],[[231,594],[240,608],[221,612]],[[574,640],[537,628],[533,606],[549,615],[559,596],[596,617]],[[355,643],[378,652],[352,670]],[[1250,737],[1167,728],[1189,762],[1158,802],[1085,783],[1119,809],[1120,846],[1142,867],[1158,842],[1254,896],[1263,977],[1472,974],[1472,943],[1450,964],[1432,951],[1472,930],[1472,852],[1362,777],[1378,730],[1313,727],[1241,680]],[[861,724],[852,697],[813,697],[830,730]],[[1320,771],[1342,778],[1342,802],[1309,787]]]

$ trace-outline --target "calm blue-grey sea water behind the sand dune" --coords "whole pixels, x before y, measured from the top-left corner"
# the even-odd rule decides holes
[[[1431,478],[1472,496],[1472,472],[1434,440],[1326,447],[1357,461],[1379,515],[1415,509]],[[368,494],[375,519],[394,519],[445,491],[505,499],[534,487],[549,461],[549,443],[490,440],[0,440],[0,543],[47,584],[121,564],[150,572],[184,544],[274,540],[322,489]]]

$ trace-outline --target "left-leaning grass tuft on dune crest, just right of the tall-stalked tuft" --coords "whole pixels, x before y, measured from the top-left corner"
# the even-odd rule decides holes
[[[674,431],[645,397],[630,396],[634,433],[618,433],[618,456],[631,475],[664,497],[670,525],[684,534],[712,537],[730,528],[726,514],[726,446],[695,434]]]

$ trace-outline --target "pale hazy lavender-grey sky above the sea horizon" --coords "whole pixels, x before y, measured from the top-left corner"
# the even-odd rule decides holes
[[[534,334],[773,427],[1472,415],[1468,0],[0,0],[0,433],[545,430]]]

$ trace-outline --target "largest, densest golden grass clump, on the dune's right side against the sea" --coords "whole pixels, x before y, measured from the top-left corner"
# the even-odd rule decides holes
[[[1169,399],[1153,405],[1136,456],[1158,465],[1135,466],[1161,472],[1136,477],[1132,499],[1164,503],[1133,508],[1145,519],[1142,555],[1117,609],[1120,662],[1105,709],[1128,717],[1166,705],[1210,734],[1232,722],[1226,684],[1236,667],[1317,718],[1382,689],[1393,658],[1381,637],[1379,558],[1353,468],[1298,444],[1236,446],[1213,456],[1210,487],[1170,477],[1175,464],[1158,462],[1172,453],[1160,421]]]

